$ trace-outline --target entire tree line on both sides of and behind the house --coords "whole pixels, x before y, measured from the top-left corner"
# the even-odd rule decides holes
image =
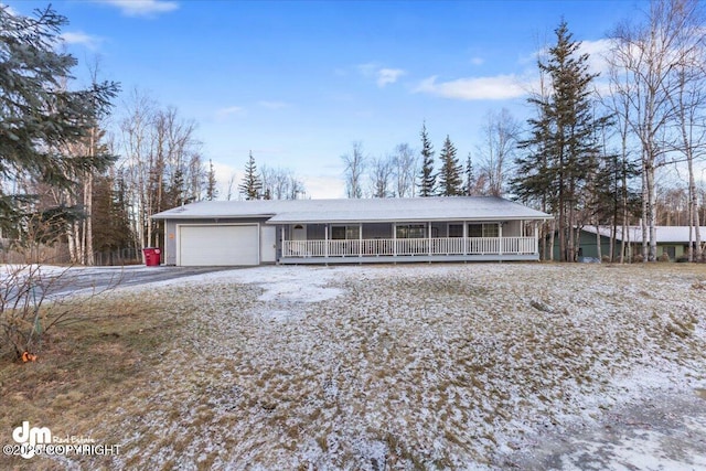
[[[533,116],[523,126],[506,109],[489,111],[466,159],[448,135],[437,159],[427,122],[419,149],[399,143],[371,157],[353,142],[341,156],[346,195],[514,197],[555,216],[542,229],[544,253],[552,257],[556,237],[561,260],[576,259],[587,224],[610,227],[611,244],[623,240],[620,261],[628,225],[642,223],[644,260],[656,258],[656,225],[691,225],[689,257],[703,258],[705,191],[695,168],[706,137],[703,12],[695,0],[648,7],[609,34],[606,76],[589,71],[561,22],[537,61]],[[202,200],[306,197],[292,171],[258,170],[252,152],[239,184],[233,175],[218,194],[193,120],[139,90],[116,118],[119,84],[100,81],[97,66],[88,86],[72,89],[77,61],[60,52],[64,17],[0,7],[0,20],[3,244],[61,240],[72,263],[92,265],[96,254],[120,263],[126,248],[135,256],[161,244],[157,212]],[[670,169],[685,173],[686,188],[659,182]]]

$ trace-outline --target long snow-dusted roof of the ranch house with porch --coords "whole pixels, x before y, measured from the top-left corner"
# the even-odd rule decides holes
[[[266,217],[271,224],[548,220],[548,214],[495,196],[371,200],[204,201],[156,220]]]

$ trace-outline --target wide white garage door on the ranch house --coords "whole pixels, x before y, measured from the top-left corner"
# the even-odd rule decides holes
[[[181,226],[179,250],[181,266],[259,265],[258,226]]]

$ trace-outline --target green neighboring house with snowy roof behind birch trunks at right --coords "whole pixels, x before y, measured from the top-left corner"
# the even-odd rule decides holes
[[[628,226],[625,233],[625,244],[628,254],[642,254],[642,226]],[[675,261],[680,258],[688,256],[689,246],[689,226],[657,226],[656,245],[657,258],[666,254],[670,260]],[[598,258],[598,237],[600,234],[600,254],[601,256],[610,255],[610,237],[612,228],[609,226],[584,226],[579,235],[579,260]],[[694,229],[692,232],[692,244],[694,243]],[[700,227],[702,240],[706,239],[706,227]],[[614,258],[620,257],[620,248],[622,245],[622,227],[616,229],[616,246],[613,249]],[[702,242],[703,244],[703,242]],[[628,255],[625,254],[625,256]],[[555,242],[555,256],[558,255],[558,246]]]

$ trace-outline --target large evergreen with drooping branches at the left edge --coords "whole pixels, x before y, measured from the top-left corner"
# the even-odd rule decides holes
[[[51,7],[35,18],[0,6],[0,178],[33,178],[55,189],[72,190],[90,171],[103,171],[115,156],[68,156],[67,144],[88,141],[99,116],[110,107],[118,85],[104,82],[66,90],[76,58],[62,51],[67,21]],[[31,197],[0,191],[0,224],[13,226]],[[26,215],[26,214],[25,214]]]

